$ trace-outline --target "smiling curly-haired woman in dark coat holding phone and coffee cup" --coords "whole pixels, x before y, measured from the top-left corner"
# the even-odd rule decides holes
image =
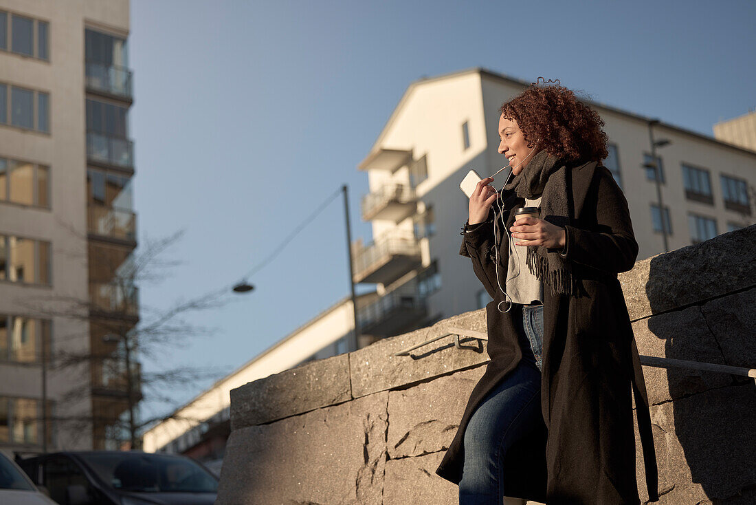
[[[462,504],[640,503],[632,391],[658,500],[646,386],[617,280],[638,245],[600,165],[603,120],[558,82],[530,86],[500,112],[498,151],[512,171],[501,192],[479,182],[460,248],[494,298],[491,361],[436,473],[460,486]],[[516,218],[525,206],[538,217]]]

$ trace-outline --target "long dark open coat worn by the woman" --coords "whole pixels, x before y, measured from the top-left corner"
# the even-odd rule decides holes
[[[636,479],[632,394],[646,469],[649,499],[658,500],[657,467],[646,385],[627,306],[617,273],[634,266],[635,241],[627,200],[606,167],[573,164],[566,180],[567,217],[545,217],[565,228],[564,249],[581,293],[551,295],[544,285],[544,354],[541,409],[544,422],[507,453],[503,488],[507,496],[556,503],[640,503]],[[552,178],[553,180],[553,178]],[[525,201],[513,192],[500,194],[507,230],[513,210]],[[494,205],[495,207],[495,205]],[[514,317],[515,304],[500,313],[503,294],[494,269],[493,217],[464,233],[460,254],[488,294],[488,363],[470,394],[467,407],[436,473],[455,484],[462,478],[463,436],[470,416],[491,389],[522,359]],[[565,224],[566,223],[566,224]],[[500,222],[499,222],[500,224]],[[500,234],[499,273],[507,272],[508,238]],[[507,307],[508,304],[502,304]]]

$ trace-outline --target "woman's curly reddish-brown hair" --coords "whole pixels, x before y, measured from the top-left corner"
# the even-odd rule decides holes
[[[538,78],[538,82],[543,79]],[[601,161],[609,155],[604,121],[596,111],[578,101],[559,80],[531,84],[501,105],[500,112],[516,121],[528,147],[533,142],[564,161]]]

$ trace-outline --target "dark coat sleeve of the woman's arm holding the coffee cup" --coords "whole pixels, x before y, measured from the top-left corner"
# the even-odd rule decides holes
[[[606,167],[596,167],[591,190],[596,196],[596,230],[565,225],[566,260],[609,273],[631,270],[638,257],[630,211],[622,190]]]

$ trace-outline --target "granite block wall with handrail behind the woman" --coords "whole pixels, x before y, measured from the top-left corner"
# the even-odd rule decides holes
[[[756,225],[639,261],[620,281],[641,355],[756,368]],[[217,503],[457,503],[435,468],[482,376],[485,341],[457,349],[449,337],[394,356],[448,327],[485,332],[485,310],[231,391]],[[643,372],[657,503],[756,503],[754,379]]]

